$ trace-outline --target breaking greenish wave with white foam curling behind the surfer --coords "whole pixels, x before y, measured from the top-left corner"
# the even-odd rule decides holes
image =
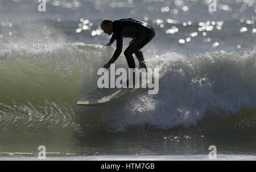
[[[97,86],[97,69],[113,52],[112,47],[81,43],[0,45],[2,138],[10,131],[16,137],[42,127],[49,135],[80,132],[82,126],[110,132],[191,127],[210,119],[209,114],[218,116],[216,125],[219,118],[240,114],[246,126],[255,127],[255,50],[183,55],[151,49],[146,64],[161,71],[158,94],[145,91],[108,106],[77,106],[79,96]],[[115,64],[127,68],[123,54]],[[227,123],[238,123],[232,119]]]

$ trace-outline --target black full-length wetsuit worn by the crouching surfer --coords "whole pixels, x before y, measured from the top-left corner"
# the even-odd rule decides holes
[[[154,36],[154,28],[146,22],[142,22],[132,18],[114,20],[113,35],[110,39],[110,43],[112,44],[114,40],[116,40],[117,49],[115,49],[113,57],[108,63],[112,64],[121,54],[123,37],[130,37],[133,40],[131,40],[129,47],[127,47],[124,52],[129,68],[135,68],[135,61],[133,58],[133,53],[135,53],[135,56],[139,61],[140,68],[147,69],[144,62],[143,54],[140,49],[144,47],[144,45],[149,43]]]

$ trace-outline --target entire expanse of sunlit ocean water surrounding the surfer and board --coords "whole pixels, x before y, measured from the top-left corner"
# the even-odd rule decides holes
[[[61,160],[204,160],[210,145],[222,160],[255,160],[255,1],[219,0],[214,12],[203,0],[38,5],[0,1],[1,160],[34,158],[39,145]],[[155,28],[142,52],[161,71],[158,94],[76,105],[114,53],[105,18]],[[123,53],[115,66],[127,68]]]

